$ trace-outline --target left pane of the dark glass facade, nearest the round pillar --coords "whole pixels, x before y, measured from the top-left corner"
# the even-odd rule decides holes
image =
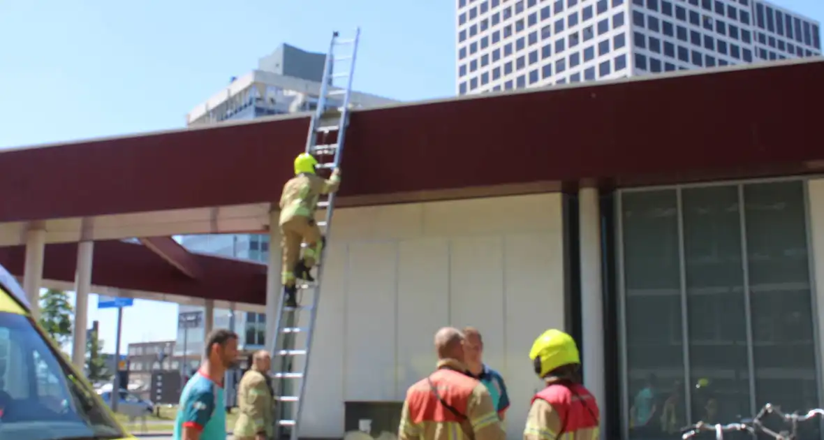
[[[621,195],[630,437],[685,425],[681,269],[675,190]],[[666,408],[665,408],[666,407]]]

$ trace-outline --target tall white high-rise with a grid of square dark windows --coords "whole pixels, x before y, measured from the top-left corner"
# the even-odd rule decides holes
[[[457,0],[456,91],[821,54],[816,21],[760,0]]]

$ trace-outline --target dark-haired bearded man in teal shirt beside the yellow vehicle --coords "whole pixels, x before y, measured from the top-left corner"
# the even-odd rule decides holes
[[[174,440],[226,440],[223,381],[237,359],[237,335],[214,330],[206,339],[206,357],[180,393]]]

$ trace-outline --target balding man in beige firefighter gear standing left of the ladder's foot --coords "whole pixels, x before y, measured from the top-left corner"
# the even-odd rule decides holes
[[[255,352],[249,371],[237,386],[237,405],[241,414],[235,422],[235,440],[269,440],[274,437],[274,396],[269,387],[271,364],[269,352]]]

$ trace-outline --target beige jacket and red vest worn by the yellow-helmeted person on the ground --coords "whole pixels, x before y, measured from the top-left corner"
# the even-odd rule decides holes
[[[532,397],[524,440],[597,440],[598,404],[583,385],[550,383]]]

